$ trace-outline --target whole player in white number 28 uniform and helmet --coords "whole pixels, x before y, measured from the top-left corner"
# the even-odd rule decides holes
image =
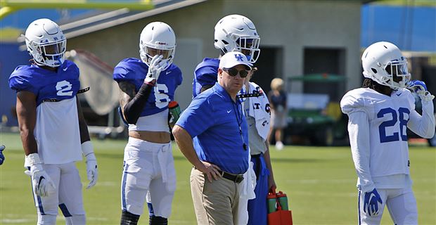
[[[394,44],[371,44],[361,60],[364,84],[340,102],[349,118],[359,224],[380,224],[385,205],[394,224],[418,224],[406,129],[426,139],[435,134],[435,96],[424,82],[410,81],[406,58]],[[422,115],[409,89],[421,98]]]

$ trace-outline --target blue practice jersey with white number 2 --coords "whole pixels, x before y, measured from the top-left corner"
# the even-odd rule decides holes
[[[20,65],[9,77],[9,87],[15,91],[30,91],[37,96],[37,106],[45,101],[74,98],[80,89],[79,68],[65,60],[58,70],[51,71],[38,65]]]

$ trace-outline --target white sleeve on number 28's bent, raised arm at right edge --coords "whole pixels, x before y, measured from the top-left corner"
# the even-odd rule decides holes
[[[431,139],[435,135],[435,109],[432,101],[421,101],[421,103],[423,115],[419,115],[416,110],[412,110],[407,127],[413,133],[425,139]]]

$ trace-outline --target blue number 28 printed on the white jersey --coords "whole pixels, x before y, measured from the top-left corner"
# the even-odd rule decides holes
[[[398,113],[392,108],[383,108],[377,113],[378,118],[383,118],[386,115],[391,115],[392,120],[382,122],[378,127],[378,134],[380,134],[380,142],[399,141],[401,137],[402,141],[407,141],[406,129],[407,122],[409,122],[410,110],[407,108],[399,108]],[[405,117],[407,115],[407,117]],[[399,121],[399,132],[393,132],[392,135],[386,135],[386,129],[393,127],[390,130],[395,130],[395,124]]]

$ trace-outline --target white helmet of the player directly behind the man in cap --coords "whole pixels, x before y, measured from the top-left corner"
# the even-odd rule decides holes
[[[259,58],[260,37],[255,24],[243,15],[227,15],[215,25],[214,34],[216,49],[223,53],[239,51],[247,56],[250,63]]]

